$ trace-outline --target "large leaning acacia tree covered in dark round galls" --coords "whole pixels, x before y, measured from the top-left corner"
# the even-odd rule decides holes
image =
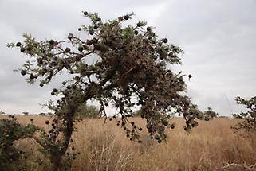
[[[133,14],[109,21],[102,21],[98,14],[86,11],[83,14],[91,24],[82,25],[78,29],[80,33],[69,33],[66,40],[37,41],[25,34],[24,43],[16,44],[31,57],[20,69],[29,83],[39,80],[43,87],[63,72],[71,77],[51,92],[60,98],[49,104],[49,109],[54,111],[52,128],[47,133],[42,130],[43,136],[36,138],[54,170],[61,168],[61,158],[69,142],[73,142],[79,107],[89,99],[100,103],[100,115],[106,119],[105,108],[115,107],[116,113],[111,114],[110,120],[116,120],[127,137],[137,142],[141,142],[142,128],[128,119],[134,107],[140,107],[148,133],[158,142],[166,138],[167,126],[174,128],[169,121],[171,115],[183,115],[184,130],[197,125],[198,112],[185,93],[183,80],[191,75],[167,68],[167,64],[181,64],[178,54],[182,49],[169,44],[167,38],[157,37],[146,21],[127,25],[125,21],[132,19]],[[96,62],[90,63],[92,58]]]

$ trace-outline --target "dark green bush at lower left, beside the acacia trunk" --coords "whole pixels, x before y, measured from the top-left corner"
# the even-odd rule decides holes
[[[26,153],[14,146],[22,138],[31,138],[37,127],[33,124],[22,126],[14,115],[0,120],[0,168],[2,170],[24,169],[19,161],[26,159]]]

